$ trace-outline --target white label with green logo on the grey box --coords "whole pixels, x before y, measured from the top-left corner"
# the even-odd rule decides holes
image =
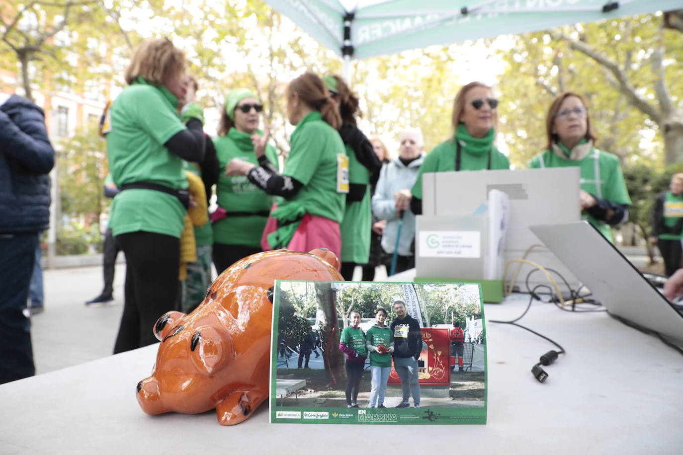
[[[479,231],[420,231],[421,257],[479,258],[482,234]]]

